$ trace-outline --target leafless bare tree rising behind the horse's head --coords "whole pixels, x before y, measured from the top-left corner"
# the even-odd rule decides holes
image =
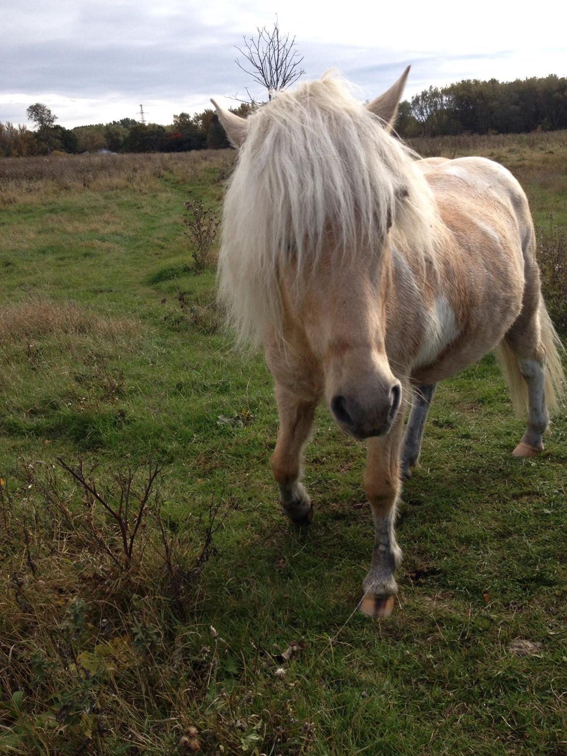
[[[236,48],[247,62],[240,63],[235,60],[244,73],[252,76],[254,81],[268,90],[268,99],[271,100],[271,92],[276,89],[285,89],[299,79],[305,73],[301,68],[303,56],[296,49],[296,38],[290,39],[289,34],[280,32],[279,22],[274,22],[274,28],[267,26],[257,27],[257,36],[243,36],[244,45]],[[249,100],[255,103],[250,95],[248,87],[246,93]]]

